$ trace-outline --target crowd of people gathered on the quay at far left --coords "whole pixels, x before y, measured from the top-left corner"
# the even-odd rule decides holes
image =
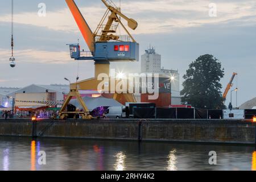
[[[59,115],[59,111],[53,110],[35,110],[35,111],[24,111],[24,110],[0,110],[0,118],[31,118],[35,116],[37,118],[53,119]]]

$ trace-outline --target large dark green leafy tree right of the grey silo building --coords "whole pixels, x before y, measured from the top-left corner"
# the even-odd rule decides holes
[[[221,78],[224,77],[224,68],[212,55],[199,56],[189,64],[189,69],[183,76],[183,104],[191,104],[196,108],[224,109],[221,94]]]

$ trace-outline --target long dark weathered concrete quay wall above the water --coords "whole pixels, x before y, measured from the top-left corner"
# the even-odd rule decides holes
[[[214,119],[0,119],[0,136],[255,144],[256,123]]]

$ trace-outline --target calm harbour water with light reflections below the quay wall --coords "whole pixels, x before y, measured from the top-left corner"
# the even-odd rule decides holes
[[[38,163],[46,152],[46,165]],[[209,165],[209,151],[217,165]],[[39,160],[39,162],[43,160]],[[256,170],[251,146],[0,137],[1,170]]]

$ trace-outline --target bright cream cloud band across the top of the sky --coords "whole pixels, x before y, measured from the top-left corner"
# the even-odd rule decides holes
[[[158,0],[158,1],[126,1],[122,2],[122,12],[129,18],[136,19],[139,26],[132,34],[156,34],[174,31],[175,28],[199,27],[204,24],[220,24],[233,20],[243,23],[256,23],[256,2],[247,1],[217,1],[217,17],[208,15],[210,1],[205,0]],[[97,27],[104,14],[104,6],[81,6],[80,10],[92,28]],[[16,23],[32,24],[47,27],[56,31],[79,32],[75,20],[68,8],[47,11],[46,17],[39,17],[34,12],[18,13],[14,16]],[[251,17],[248,18],[247,17]],[[9,22],[10,15],[0,16],[0,21]],[[124,23],[126,24],[126,23]]]

